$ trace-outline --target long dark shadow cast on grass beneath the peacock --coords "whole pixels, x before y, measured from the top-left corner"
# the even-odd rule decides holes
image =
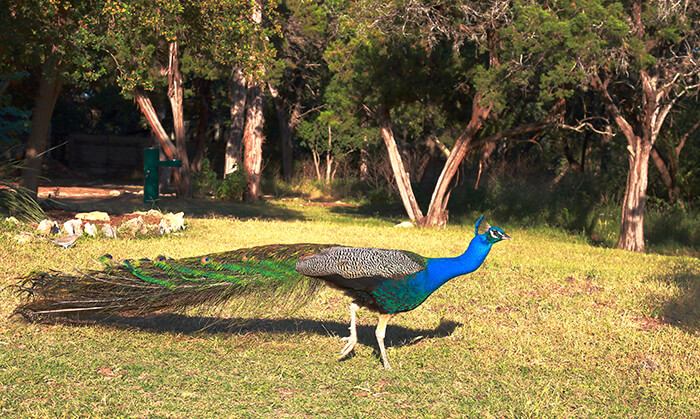
[[[345,337],[349,334],[349,323],[301,318],[243,319],[209,316],[187,316],[183,314],[152,314],[148,316],[92,316],[82,320],[56,318],[54,323],[71,325],[102,325],[117,329],[137,329],[156,333],[202,334],[249,334],[249,333],[315,333],[321,336]],[[385,343],[387,347],[413,345],[426,338],[442,338],[451,335],[462,324],[453,320],[441,320],[434,329],[412,329],[389,323]],[[377,349],[374,325],[358,325],[359,344]],[[339,348],[340,349],[340,348]]]

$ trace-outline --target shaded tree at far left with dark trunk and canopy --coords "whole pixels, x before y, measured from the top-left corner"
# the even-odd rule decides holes
[[[101,8],[92,1],[4,1],[2,71],[32,69],[39,86],[25,147],[21,185],[36,198],[51,116],[66,81],[95,80],[104,72],[92,41]]]

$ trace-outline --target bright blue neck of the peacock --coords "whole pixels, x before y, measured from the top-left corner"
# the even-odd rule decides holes
[[[426,291],[433,292],[450,279],[477,270],[484,263],[492,245],[485,234],[480,234],[472,239],[461,256],[429,259],[423,271]]]

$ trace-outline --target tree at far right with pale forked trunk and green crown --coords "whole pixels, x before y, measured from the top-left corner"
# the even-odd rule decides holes
[[[522,33],[561,59],[549,84],[579,79],[592,89],[627,142],[628,171],[618,248],[644,251],[649,158],[678,100],[697,92],[700,6],[591,0],[528,3]],[[522,28],[525,28],[523,26]]]

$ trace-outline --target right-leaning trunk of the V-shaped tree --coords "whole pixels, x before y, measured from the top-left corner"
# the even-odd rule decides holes
[[[440,173],[438,182],[435,185],[435,190],[433,191],[433,196],[430,200],[428,215],[426,215],[425,220],[423,220],[423,224],[426,226],[445,225],[447,222],[447,203],[450,199],[450,185],[452,179],[455,173],[457,173],[457,169],[462,163],[462,160],[464,160],[464,157],[467,155],[472,139],[481,129],[484,121],[491,112],[491,103],[482,105],[482,98],[483,95],[480,93],[474,96],[472,116],[469,120],[469,124],[467,124],[462,135],[459,136],[454,147],[452,147],[450,157],[447,158],[445,167],[443,167],[442,173]]]

